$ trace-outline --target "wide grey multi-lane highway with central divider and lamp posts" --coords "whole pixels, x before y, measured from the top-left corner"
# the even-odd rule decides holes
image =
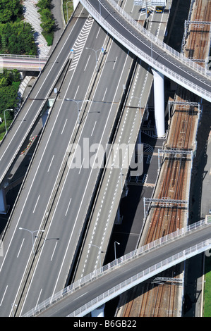
[[[72,32],[68,35],[64,58],[70,48],[76,58],[78,52],[80,56],[68,67],[4,239],[1,316],[11,316],[17,310],[17,315],[25,313],[66,285],[100,171],[90,165],[84,168],[88,160],[83,155],[80,167],[71,169],[71,143],[83,147],[84,138],[90,146],[109,142],[131,69],[128,51],[110,39],[82,6],[78,10],[78,20],[73,23],[80,21],[79,35],[76,40],[71,39]],[[96,70],[93,53],[102,47]],[[37,232],[31,235],[29,230]],[[34,258],[36,263],[29,273]]]

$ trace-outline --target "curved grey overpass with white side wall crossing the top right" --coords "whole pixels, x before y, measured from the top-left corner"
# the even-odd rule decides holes
[[[211,73],[135,22],[114,0],[80,0],[114,39],[152,68],[189,91],[211,101]]]

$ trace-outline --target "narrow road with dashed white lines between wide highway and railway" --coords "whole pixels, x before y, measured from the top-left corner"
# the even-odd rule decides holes
[[[128,13],[133,12],[131,15],[138,21],[142,20],[142,24],[145,23],[145,13],[138,13],[137,8],[132,8],[132,4],[128,4],[128,1],[123,1],[121,6]],[[164,38],[168,16],[169,13],[164,13],[164,15],[152,13],[148,18],[149,29],[160,39]],[[126,146],[135,145],[136,142],[140,143],[140,125],[147,117],[145,108],[147,108],[152,82],[153,75],[149,66],[138,59],[131,85],[126,92],[121,120],[116,128],[114,146],[115,144]],[[127,154],[126,149],[123,152]],[[124,155],[126,156],[126,154]],[[74,281],[88,275],[92,270],[99,268],[100,263],[104,263],[114,221],[118,222],[121,198],[127,195],[128,165],[125,162],[118,166],[118,158],[115,160],[112,154],[109,161],[112,166],[108,169],[105,168],[102,175],[89,220],[88,232],[85,234],[83,249],[81,249],[75,268]],[[135,244],[134,240],[131,250],[135,249]]]

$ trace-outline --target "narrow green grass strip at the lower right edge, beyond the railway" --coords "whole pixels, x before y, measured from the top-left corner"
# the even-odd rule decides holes
[[[204,317],[211,317],[211,256],[205,257]]]

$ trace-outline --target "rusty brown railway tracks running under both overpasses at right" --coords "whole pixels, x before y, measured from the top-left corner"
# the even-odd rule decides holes
[[[196,0],[191,20],[210,22],[211,1]],[[207,56],[207,33],[210,33],[210,25],[195,25],[186,44],[186,56],[200,60],[200,65],[204,65],[203,61]],[[173,133],[169,135],[166,149],[193,150],[198,108],[188,105],[188,103],[181,104],[181,101],[185,103],[186,100],[191,100],[190,93],[179,87],[175,98],[178,104],[174,106],[174,111],[171,113],[171,132]],[[175,154],[166,154],[162,161],[162,180],[160,180],[159,193],[155,197],[185,200],[186,189],[184,188],[188,185],[190,162],[191,159],[188,156],[177,155],[175,157]],[[183,227],[184,212],[181,207],[181,205],[169,206],[165,202],[151,206],[152,218],[150,218],[150,226],[144,244]],[[180,274],[180,264],[162,273],[165,277],[174,277],[174,279]],[[125,305],[123,317],[177,316],[176,313],[179,308],[176,305],[178,289],[179,287],[173,282],[155,284],[147,281],[138,285],[133,289],[131,299],[128,299],[128,304]]]

